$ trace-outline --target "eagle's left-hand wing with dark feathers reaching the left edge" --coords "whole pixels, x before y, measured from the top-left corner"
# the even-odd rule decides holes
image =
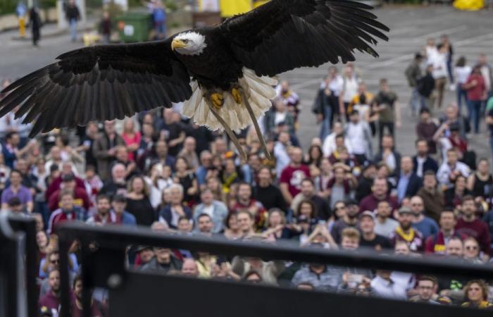
[[[90,120],[122,119],[192,95],[187,68],[169,40],[87,47],[13,82],[3,92],[0,117],[21,105],[16,118],[33,122],[30,137]],[[23,102],[24,101],[24,102]]]

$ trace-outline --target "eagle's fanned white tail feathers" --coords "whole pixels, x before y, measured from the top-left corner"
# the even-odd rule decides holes
[[[277,85],[277,80],[274,78],[258,77],[253,70],[243,68],[243,77],[239,80],[239,86],[243,88],[256,118],[262,116],[270,108],[270,100],[275,98],[273,88],[275,85]],[[191,87],[192,97],[183,104],[182,114],[191,118],[197,125],[205,125],[213,131],[224,130],[223,125],[209,111],[204,92],[201,91],[197,82],[193,81]],[[237,104],[230,92],[224,92],[223,98],[224,104],[218,113],[232,130],[238,131],[251,124],[244,101],[241,105]]]

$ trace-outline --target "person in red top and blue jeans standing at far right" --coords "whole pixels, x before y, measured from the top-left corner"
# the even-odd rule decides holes
[[[480,130],[480,111],[481,104],[487,96],[487,89],[485,85],[485,77],[482,76],[481,67],[474,66],[472,73],[470,73],[466,83],[462,85],[462,88],[466,90],[468,97],[468,120],[469,124],[473,120],[474,132],[479,133]]]

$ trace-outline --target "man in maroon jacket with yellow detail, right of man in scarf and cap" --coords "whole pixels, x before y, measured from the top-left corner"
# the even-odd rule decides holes
[[[446,245],[451,241],[451,238],[461,239],[461,235],[455,230],[457,217],[454,211],[442,211],[439,224],[439,232],[428,237],[425,242],[425,253],[427,254],[446,254]]]

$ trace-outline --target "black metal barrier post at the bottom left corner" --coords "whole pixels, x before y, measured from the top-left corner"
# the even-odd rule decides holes
[[[36,223],[0,213],[0,317],[37,315]]]

